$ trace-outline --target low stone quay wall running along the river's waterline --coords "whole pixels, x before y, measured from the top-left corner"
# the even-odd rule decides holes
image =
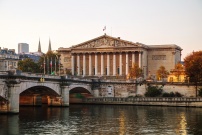
[[[160,98],[160,97],[130,97],[130,98],[86,98],[83,104],[113,104],[113,105],[141,105],[141,106],[175,106],[202,107],[202,98]]]

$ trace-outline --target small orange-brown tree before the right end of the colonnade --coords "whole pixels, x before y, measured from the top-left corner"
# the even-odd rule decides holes
[[[133,63],[132,68],[130,69],[129,72],[129,78],[138,78],[142,76],[142,69],[139,68],[139,66],[135,63]]]

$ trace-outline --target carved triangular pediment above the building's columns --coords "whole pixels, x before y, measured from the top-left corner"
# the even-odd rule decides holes
[[[72,48],[113,48],[113,47],[137,47],[139,44],[103,35],[98,38],[75,45]]]

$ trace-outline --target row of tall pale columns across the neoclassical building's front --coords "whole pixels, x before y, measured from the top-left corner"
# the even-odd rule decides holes
[[[142,54],[142,51],[72,53],[72,74],[78,76],[128,75],[133,63],[142,68]]]

